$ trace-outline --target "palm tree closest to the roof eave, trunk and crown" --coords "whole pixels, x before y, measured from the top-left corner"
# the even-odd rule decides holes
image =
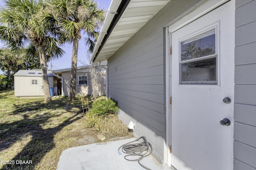
[[[105,11],[100,9],[94,0],[48,0],[48,4],[49,8],[53,8],[52,14],[56,14],[68,41],[73,43],[69,93],[70,101],[73,101],[76,97],[77,54],[81,31],[88,35],[85,43],[89,46],[89,51],[92,52],[98,38],[96,30],[99,29],[105,18]]]

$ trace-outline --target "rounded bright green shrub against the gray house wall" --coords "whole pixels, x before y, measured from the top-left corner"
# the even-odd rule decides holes
[[[117,113],[119,110],[115,102],[110,98],[108,100],[98,100],[92,104],[90,111],[100,117],[105,117],[110,114]]]

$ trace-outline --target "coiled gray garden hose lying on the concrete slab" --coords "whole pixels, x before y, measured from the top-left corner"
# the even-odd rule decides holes
[[[143,142],[141,143],[134,143],[136,141],[139,141],[140,139],[143,139]],[[128,142],[121,147],[118,148],[118,153],[120,154],[119,150],[122,148],[122,152],[128,154],[125,155],[124,158],[128,161],[138,161],[140,166],[145,168],[146,170],[150,170],[146,166],[142,165],[140,163],[140,160],[142,160],[144,157],[149,156],[152,153],[152,146],[150,143],[148,143],[146,137],[142,136],[132,142]],[[149,152],[149,153],[148,153]],[[120,154],[121,155],[121,154]],[[139,156],[138,159],[128,159],[128,156]]]

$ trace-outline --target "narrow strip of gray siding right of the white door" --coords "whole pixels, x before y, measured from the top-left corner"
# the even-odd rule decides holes
[[[256,170],[256,0],[236,0],[234,170]]]

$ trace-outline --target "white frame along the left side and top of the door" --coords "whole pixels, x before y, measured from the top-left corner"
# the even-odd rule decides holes
[[[204,0],[202,0],[204,1]],[[198,18],[204,16],[205,14],[208,14],[209,12],[215,10],[219,6],[225,4],[230,0],[208,0],[189,14],[183,16],[180,20],[171,23],[168,27],[165,27],[165,44],[166,44],[166,51],[165,51],[165,62],[166,62],[166,141],[164,141],[164,164],[171,167],[171,105],[170,105],[170,98],[171,98],[171,62],[172,62],[172,55],[170,53],[170,47],[171,44],[171,34],[184,27],[185,25],[188,25],[189,23],[197,20]],[[233,3],[235,3],[235,0],[231,0]]]

